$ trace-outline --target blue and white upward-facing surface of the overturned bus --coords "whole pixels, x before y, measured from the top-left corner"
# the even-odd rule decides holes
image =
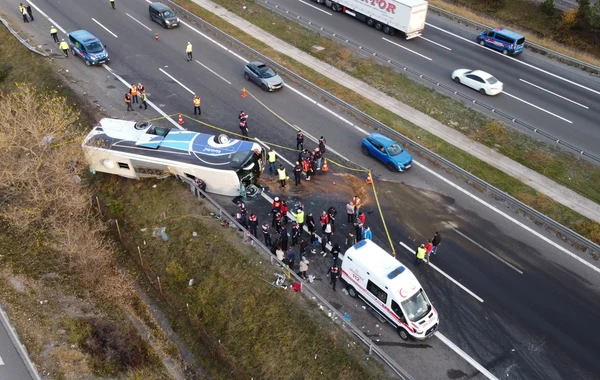
[[[219,144],[206,133],[108,118],[100,120],[83,145],[225,170],[239,169],[249,154],[261,151],[250,141],[230,139]]]

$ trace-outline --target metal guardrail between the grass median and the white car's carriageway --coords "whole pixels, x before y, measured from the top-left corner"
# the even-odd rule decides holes
[[[283,8],[280,5],[273,4],[269,0],[262,0],[262,2],[264,2],[268,6],[271,6],[271,7],[275,8],[275,9],[280,10],[280,12],[278,12],[278,14],[281,14],[282,16],[287,17],[287,18],[289,18],[292,21],[295,21],[295,22],[300,21],[300,22],[303,22],[304,24],[306,24],[309,28],[316,28],[319,31],[325,32],[325,33],[331,35],[331,37],[333,37],[333,38],[335,38],[335,39],[337,39],[337,40],[339,40],[339,41],[341,41],[343,43],[351,45],[352,47],[359,49],[360,51],[362,51],[363,53],[368,54],[371,57],[375,57],[375,58],[381,59],[386,64],[391,65],[391,66],[393,66],[396,69],[399,69],[399,70],[405,71],[407,73],[410,73],[410,74],[418,77],[419,79],[422,79],[422,80],[424,80],[426,82],[431,83],[435,87],[442,88],[442,89],[450,92],[451,94],[454,94],[454,95],[458,96],[459,98],[462,98],[462,99],[468,101],[472,105],[480,106],[481,108],[483,108],[483,109],[485,109],[485,110],[487,110],[489,112],[492,112],[495,115],[503,117],[508,122],[510,122],[508,125],[510,125],[511,123],[512,124],[517,124],[518,126],[523,127],[525,129],[529,130],[530,132],[536,134],[536,135],[539,135],[541,137],[544,137],[544,138],[550,140],[553,144],[556,144],[557,147],[567,148],[571,153],[575,154],[575,156],[578,159],[580,157],[583,157],[583,158],[587,159],[588,161],[590,161],[592,163],[600,165],[600,157],[598,157],[598,156],[596,156],[596,155],[594,155],[592,153],[586,152],[585,150],[583,150],[581,148],[578,148],[578,147],[576,147],[573,144],[570,144],[570,143],[568,143],[566,141],[563,141],[563,140],[559,139],[558,137],[555,137],[555,136],[551,135],[548,132],[545,132],[545,131],[543,131],[543,130],[541,130],[539,128],[536,128],[536,127],[534,127],[532,125],[529,125],[526,122],[524,122],[522,120],[519,120],[516,117],[513,117],[513,116],[511,116],[511,115],[509,115],[509,114],[507,114],[507,113],[505,113],[503,111],[497,110],[496,108],[494,108],[494,107],[492,107],[492,106],[490,106],[490,105],[488,105],[486,103],[483,103],[482,101],[479,101],[479,100],[477,100],[477,99],[475,99],[475,98],[473,98],[473,97],[471,97],[471,96],[469,96],[467,94],[464,94],[464,93],[462,93],[460,91],[454,90],[452,87],[447,86],[447,85],[445,85],[443,83],[440,83],[438,80],[436,80],[434,78],[430,78],[430,77],[428,77],[425,74],[421,74],[420,72],[411,69],[410,67],[404,66],[403,64],[401,64],[399,62],[396,62],[396,61],[392,60],[391,58],[386,57],[383,54],[379,54],[379,53],[377,53],[377,52],[375,52],[375,51],[373,51],[373,50],[371,50],[371,49],[369,49],[367,47],[364,47],[364,46],[360,45],[359,43],[354,42],[354,41],[350,40],[349,38],[346,38],[346,37],[342,36],[341,34],[335,33],[333,31],[327,29],[326,27],[321,26],[321,25],[319,25],[319,24],[317,24],[315,22],[312,22],[312,21],[310,21],[310,20],[308,20],[308,19],[306,19],[306,18],[304,18],[304,17],[302,17],[302,16],[300,16],[300,15],[298,15],[298,14],[292,12],[292,11],[289,11],[289,10]],[[283,13],[281,13],[281,12],[283,12]],[[521,132],[521,131],[519,131],[519,132]]]

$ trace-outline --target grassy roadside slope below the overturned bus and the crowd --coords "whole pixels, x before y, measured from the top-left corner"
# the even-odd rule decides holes
[[[270,263],[211,217],[186,186],[108,175],[97,183],[103,203],[123,210],[119,224],[131,264],[138,266],[141,256],[142,277],[213,377],[386,378],[316,305],[267,283],[274,279]],[[152,236],[158,227],[166,227],[168,241]]]

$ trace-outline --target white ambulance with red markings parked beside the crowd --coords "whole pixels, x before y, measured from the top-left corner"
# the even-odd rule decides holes
[[[412,272],[371,240],[344,254],[342,279],[352,297],[360,297],[389,321],[403,340],[423,340],[438,328],[438,314]]]

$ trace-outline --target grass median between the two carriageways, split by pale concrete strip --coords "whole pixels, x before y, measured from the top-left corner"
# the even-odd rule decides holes
[[[329,38],[298,27],[297,24],[272,13],[254,1],[213,1],[299,49],[344,70],[366,83],[370,83],[373,87],[388,95],[496,149],[515,161],[537,170],[589,199],[600,202],[600,188],[596,186],[600,181],[599,167],[577,160],[568,153],[506,128],[503,124],[487,118],[459,101],[421,86],[403,75],[398,75],[392,69],[379,65],[372,59],[359,57],[352,50]],[[220,17],[194,4],[193,1],[175,0],[175,2],[366,114],[411,139],[418,140],[423,146],[470,171],[484,181],[577,231],[588,239],[597,243],[600,242],[599,224],[538,193],[531,187],[478,160],[467,152],[423,131],[418,126],[401,119],[377,103],[363,98],[311,68],[275,51],[265,43],[254,39]],[[315,45],[322,46],[325,49],[320,52],[313,52],[313,46]]]

